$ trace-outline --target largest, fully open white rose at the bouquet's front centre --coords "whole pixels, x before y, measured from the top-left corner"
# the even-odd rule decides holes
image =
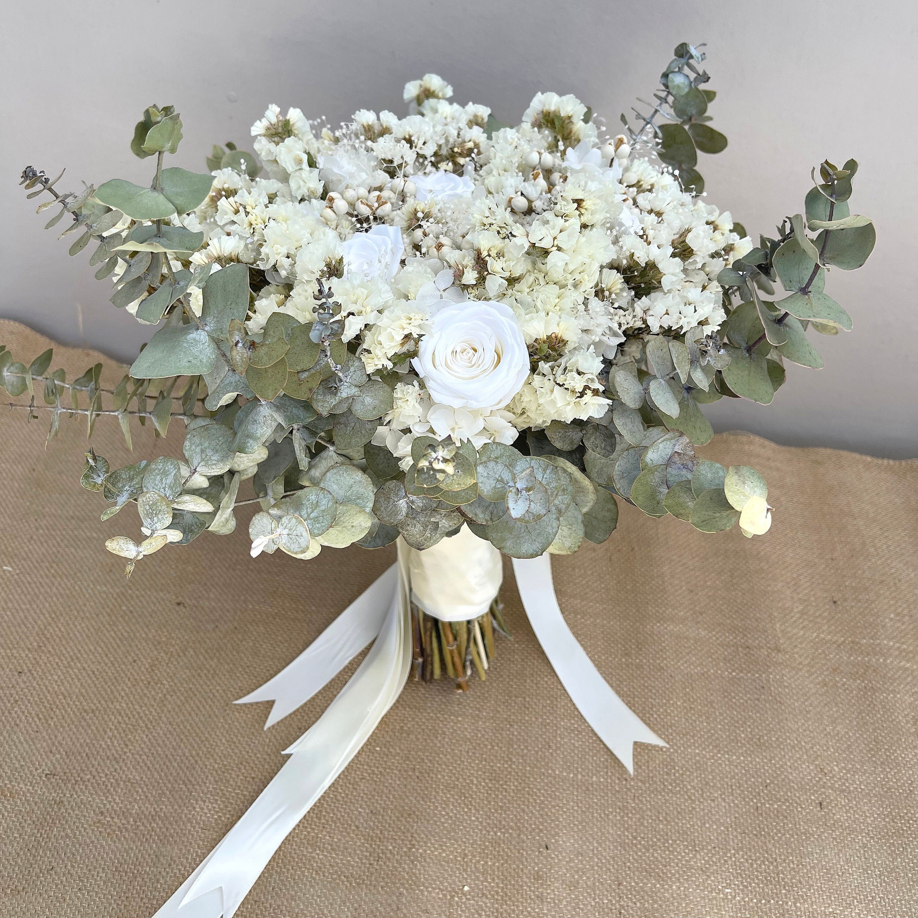
[[[431,399],[453,408],[503,408],[529,375],[513,310],[487,301],[442,301],[411,363]]]

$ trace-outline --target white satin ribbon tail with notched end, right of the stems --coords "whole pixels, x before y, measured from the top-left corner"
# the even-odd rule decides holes
[[[567,627],[554,592],[551,555],[514,558],[513,573],[532,631],[577,711],[633,774],[633,744],[666,743],[612,691]]]

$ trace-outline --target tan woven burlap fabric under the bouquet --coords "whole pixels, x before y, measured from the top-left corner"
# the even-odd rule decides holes
[[[47,346],[11,322],[0,341]],[[97,359],[57,354],[69,378]],[[95,448],[121,464],[109,421]],[[128,582],[102,543],[136,514],[99,521],[83,422],[62,426],[46,451],[44,422],[0,420],[0,914],[148,918],[345,676],[268,733],[267,705],[230,702],[393,554],[252,560],[241,514]],[[622,506],[608,543],[554,561],[571,628],[670,748],[638,745],[628,776],[509,579],[487,683],[409,683],[241,918],[918,913],[918,464],[736,434],[705,453],[767,476],[766,537]]]

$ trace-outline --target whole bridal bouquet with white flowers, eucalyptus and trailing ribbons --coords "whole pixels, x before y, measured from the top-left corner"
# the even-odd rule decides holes
[[[679,45],[650,110],[622,116],[617,136],[550,92],[504,126],[485,106],[449,101],[452,88],[428,74],[405,87],[405,117],[362,109],[330,129],[269,106],[254,154],[215,146],[206,174],[167,167],[182,140],[172,106],[149,107],[134,130],[131,149],[155,164],[149,184],[60,194],[57,179],[24,172],[30,196],[50,195],[39,210],[59,207],[49,226],[66,220],[71,254],[93,243],[113,305],[159,328],[111,391],[100,366],[69,383],[50,372],[50,351],[26,365],[0,349],[0,382],[28,390],[30,412],[40,383],[51,435],[76,414],[90,433],[100,415],[117,418],[129,444],[135,421],[162,436],[185,425],[182,459],[111,468],[87,453],[82,484],[109,503],[103,520],[128,504],[140,515],[142,538],[106,542],[128,573],[167,545],[233,532],[236,508],[256,502],[252,556],[398,543],[381,592],[246,699],[274,700],[273,722],[337,672],[323,663],[332,647],[340,668],[376,637],[364,666],[367,678],[381,667],[379,681],[353,689],[368,692],[372,716],[321,780],[308,756],[330,742],[322,723],[339,702],[344,716],[352,683],[289,750],[285,768],[305,750],[314,784],[290,791],[296,805],[280,798],[293,823],[412,669],[459,689],[486,677],[506,631],[500,553],[528,572],[533,628],[610,748],[631,767],[635,739],[662,743],[598,673],[578,684],[595,673],[588,660],[565,674],[553,657],[565,642],[583,652],[554,603],[548,555],[608,539],[617,499],[702,532],[767,532],[762,476],[697,452],[712,435],[702,406],[766,404],[785,364],[820,367],[808,330],[851,327],[823,291],[827,271],[859,267],[875,240],[849,210],[853,160],[823,162],[802,212],[757,244],[708,203],[698,154],[727,140],[711,127],[703,57]],[[603,725],[616,704],[630,736]],[[253,878],[214,863],[250,844],[240,826],[257,805],[171,907],[211,914],[192,905],[219,887],[219,908],[235,910]],[[237,863],[254,877],[276,847],[263,857],[258,844],[248,867]]]

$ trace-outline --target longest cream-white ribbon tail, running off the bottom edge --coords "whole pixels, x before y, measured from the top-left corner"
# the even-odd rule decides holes
[[[232,918],[287,834],[397,699],[408,680],[411,624],[404,567],[395,576],[397,588],[364,661],[319,720],[285,750],[289,760],[258,799],[154,918]]]

